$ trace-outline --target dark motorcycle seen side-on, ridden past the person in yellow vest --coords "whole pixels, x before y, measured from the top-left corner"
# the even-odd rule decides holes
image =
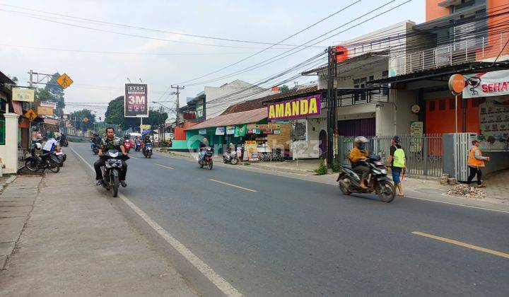
[[[380,156],[370,155],[364,161],[370,168],[370,185],[368,189],[361,189],[361,177],[355,173],[350,166],[341,165],[341,173],[337,178],[339,189],[343,194],[349,195],[353,192],[371,193],[375,192],[382,202],[392,202],[395,192],[394,185],[389,177],[387,177],[387,168],[380,161]]]

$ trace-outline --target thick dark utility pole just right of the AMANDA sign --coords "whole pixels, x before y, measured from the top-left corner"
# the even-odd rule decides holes
[[[329,47],[327,64],[327,167],[334,165],[334,134],[337,131],[336,107],[337,86],[334,83],[337,76],[337,59],[334,47]]]

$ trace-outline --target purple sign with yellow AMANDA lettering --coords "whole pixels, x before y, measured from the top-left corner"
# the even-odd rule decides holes
[[[320,115],[322,95],[312,95],[294,100],[269,103],[267,112],[270,120],[298,119],[310,115]]]

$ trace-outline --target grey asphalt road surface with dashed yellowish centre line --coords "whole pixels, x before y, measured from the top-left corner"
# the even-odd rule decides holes
[[[129,155],[119,191],[246,296],[509,296],[507,213]]]

